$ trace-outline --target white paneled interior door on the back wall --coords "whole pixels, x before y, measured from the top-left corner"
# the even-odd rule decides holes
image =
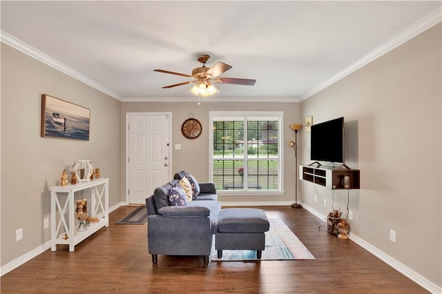
[[[129,204],[145,204],[157,186],[169,182],[171,115],[132,113],[127,121],[126,199]]]

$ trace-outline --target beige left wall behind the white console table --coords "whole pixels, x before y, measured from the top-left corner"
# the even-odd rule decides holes
[[[40,137],[41,94],[90,109],[90,141]],[[50,241],[49,187],[77,159],[105,166],[109,202],[119,204],[121,102],[1,44],[1,266]],[[15,232],[23,228],[23,239]]]

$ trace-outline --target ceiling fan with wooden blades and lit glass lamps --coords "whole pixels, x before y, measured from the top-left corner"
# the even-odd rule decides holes
[[[233,77],[218,77],[223,72],[231,69],[232,67],[229,64],[218,62],[211,68],[206,68],[206,62],[209,61],[209,55],[199,55],[197,57],[198,61],[202,63],[202,66],[199,68],[193,68],[192,75],[186,75],[180,72],[171,72],[169,70],[153,70],[155,72],[164,72],[170,75],[180,75],[182,77],[190,77],[193,80],[191,81],[183,81],[182,83],[173,84],[169,86],[162,87],[163,89],[174,88],[177,86],[183,86],[187,84],[196,83],[193,88],[191,88],[191,92],[197,96],[209,97],[213,94],[220,92],[217,86],[214,83],[222,83],[222,84],[236,84],[236,85],[246,85],[253,86],[256,82],[256,79],[237,79]]]

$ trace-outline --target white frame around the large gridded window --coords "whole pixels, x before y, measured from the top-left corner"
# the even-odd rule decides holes
[[[282,132],[282,126],[284,126],[284,112],[282,111],[209,111],[209,180],[213,182],[213,117],[279,117],[280,126],[278,128],[278,155],[279,155],[279,190],[217,190],[220,195],[283,195],[284,193],[284,132]],[[247,151],[245,151],[247,155]],[[245,155],[244,155],[245,156]]]

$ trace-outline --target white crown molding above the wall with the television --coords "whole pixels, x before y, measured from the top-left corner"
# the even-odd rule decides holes
[[[327,88],[328,86],[331,86],[332,84],[336,83],[336,81],[339,81],[340,79],[343,79],[343,77],[346,77],[347,75],[351,74],[352,72],[355,72],[359,68],[362,68],[363,66],[367,65],[368,63],[374,61],[375,59],[378,59],[382,55],[385,55],[387,52],[390,52],[394,48],[401,46],[406,41],[409,41],[410,39],[416,37],[417,35],[421,34],[421,32],[424,32],[425,30],[428,30],[429,28],[432,28],[433,26],[436,26],[437,23],[440,23],[442,21],[442,14],[441,14],[441,8],[437,8],[430,14],[428,14],[426,17],[423,17],[423,19],[417,21],[409,28],[406,28],[402,32],[400,32],[398,35],[394,36],[392,39],[386,41],[381,46],[378,46],[378,48],[372,50],[367,55],[363,56],[358,61],[352,63],[351,66],[348,68],[345,68],[343,71],[338,72],[334,77],[331,77],[327,81],[325,81],[323,84],[320,84],[316,88],[312,89],[310,92],[307,92],[306,95],[302,96],[300,98],[300,101],[303,101],[313,95],[315,95],[320,90],[323,90]]]

